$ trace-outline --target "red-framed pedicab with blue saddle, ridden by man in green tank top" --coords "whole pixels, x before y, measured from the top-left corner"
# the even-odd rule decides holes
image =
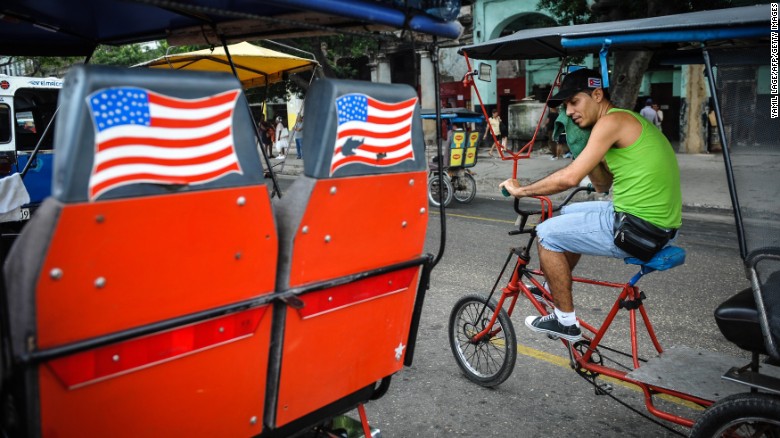
[[[568,57],[595,54],[604,88],[615,86],[609,74],[609,56],[621,50],[652,50],[661,65],[704,65],[723,143],[736,243],[747,277],[747,287],[714,309],[714,318],[723,336],[749,352],[751,360],[734,363],[711,352],[661,347],[643,303],[647,297],[636,283],[650,272],[682,264],[685,252],[677,247],[667,247],[649,262],[626,259],[626,263],[639,265],[639,272],[626,284],[575,277],[576,282],[617,288],[620,295],[602,325],[579,321],[584,340],[562,339],[571,368],[594,384],[597,394],[608,393],[607,387],[597,382],[600,376],[636,385],[644,393],[648,412],[691,428],[691,435],[696,437],[780,435],[780,203],[775,190],[767,189],[776,187],[773,175],[780,165],[777,81],[771,79],[777,74],[777,32],[770,32],[770,19],[776,29],[777,16],[775,5],[760,5],[529,29],[460,50],[469,71],[472,60],[547,58],[561,58],[560,71],[565,71]],[[758,82],[756,96],[735,94],[735,84],[746,82]],[[775,85],[762,88],[761,84],[770,83]],[[558,84],[560,80],[556,79]],[[518,162],[526,158],[532,146],[506,157],[502,153],[502,157],[515,162],[513,177],[518,176]],[[757,155],[761,157],[758,167],[750,164],[755,161],[750,158]],[[509,284],[497,288],[497,281],[488,297],[464,297],[451,314],[450,341],[455,359],[470,380],[483,386],[496,386],[512,372],[517,343],[510,316],[517,299],[529,299],[543,315],[550,309],[550,295],[535,278],[543,273],[527,268],[535,232],[526,225],[530,215],[541,214],[540,220],[544,220],[560,205],[547,197],[534,198],[540,203],[539,210],[520,208],[518,200],[514,202],[520,215],[516,224],[519,228],[510,234],[528,234],[530,240],[525,247],[513,248],[504,264],[512,275]],[[570,199],[567,197],[562,204]],[[514,269],[509,266],[512,260],[516,263]],[[536,294],[531,286],[537,289]],[[685,311],[681,309],[681,313]],[[629,352],[603,346],[605,331],[618,312],[630,315]],[[636,320],[640,316],[651,341],[646,349],[649,351],[644,353],[638,345]],[[632,358],[632,363],[614,361],[620,355]],[[654,402],[662,394],[692,402],[703,413],[681,416],[666,411]]]

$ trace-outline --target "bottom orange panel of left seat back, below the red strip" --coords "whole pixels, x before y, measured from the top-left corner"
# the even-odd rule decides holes
[[[73,389],[41,366],[43,436],[260,434],[271,320],[267,312],[235,342]]]

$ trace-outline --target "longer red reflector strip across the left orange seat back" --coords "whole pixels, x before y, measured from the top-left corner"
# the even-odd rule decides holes
[[[47,366],[69,389],[127,374],[252,336],[268,306],[54,359]]]

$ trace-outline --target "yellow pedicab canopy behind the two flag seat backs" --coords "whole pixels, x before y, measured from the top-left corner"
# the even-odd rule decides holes
[[[317,61],[300,58],[248,42],[231,44],[228,53],[244,88],[262,87],[279,82],[285,74],[311,70]],[[168,68],[231,73],[230,61],[223,47],[165,55],[135,67]]]

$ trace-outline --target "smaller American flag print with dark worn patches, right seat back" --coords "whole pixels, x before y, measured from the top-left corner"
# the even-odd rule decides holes
[[[352,163],[389,167],[414,160],[412,117],[417,98],[386,103],[365,94],[336,99],[338,127],[330,174]]]

